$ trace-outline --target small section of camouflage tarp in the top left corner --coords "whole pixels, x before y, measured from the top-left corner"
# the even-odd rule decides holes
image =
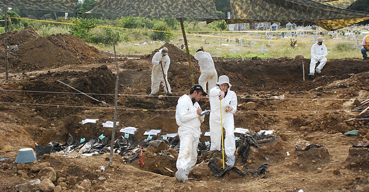
[[[75,13],[78,0],[0,0],[0,7]]]

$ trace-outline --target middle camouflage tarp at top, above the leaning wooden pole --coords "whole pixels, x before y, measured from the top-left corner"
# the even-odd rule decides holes
[[[87,13],[154,18],[218,18],[212,0],[98,0]]]

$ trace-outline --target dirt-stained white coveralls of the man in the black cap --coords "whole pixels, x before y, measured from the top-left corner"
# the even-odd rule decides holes
[[[189,95],[182,95],[178,99],[176,107],[176,122],[179,126],[178,136],[180,140],[177,158],[177,169],[183,168],[186,174],[193,169],[197,161],[197,145],[200,138],[200,125],[204,121],[204,115],[197,115],[199,103],[192,104]]]

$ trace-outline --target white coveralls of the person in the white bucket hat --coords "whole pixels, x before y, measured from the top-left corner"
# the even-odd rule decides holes
[[[210,100],[210,139],[211,146],[210,150],[221,150],[221,122],[220,122],[220,102],[218,95],[221,90],[218,86],[211,88],[209,92],[209,100]],[[222,115],[223,115],[223,127],[225,129],[225,139],[224,139],[224,150],[227,155],[228,161],[229,158],[233,158],[234,163],[234,153],[236,151],[236,144],[234,138],[234,118],[233,114],[237,110],[237,95],[235,92],[231,91],[228,88],[227,95],[221,100],[222,102]],[[226,113],[225,108],[232,107],[232,111]],[[228,165],[228,162],[227,162]]]

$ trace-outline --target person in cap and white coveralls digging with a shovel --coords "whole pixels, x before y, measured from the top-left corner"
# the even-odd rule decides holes
[[[164,92],[165,94],[167,94],[166,91],[166,86],[165,86],[165,82],[168,85],[168,91],[172,92],[170,90],[170,85],[168,82],[168,69],[169,69],[169,65],[170,65],[170,58],[168,55],[164,56],[162,55],[162,49],[159,50],[159,52],[155,53],[154,57],[152,57],[152,64],[154,64],[152,66],[152,71],[151,71],[151,94],[155,95],[158,93],[159,91],[159,87],[160,87],[160,83],[164,84]],[[163,65],[163,70],[164,70],[164,74],[165,74],[165,80],[163,78],[163,71],[161,69],[160,66],[160,60],[163,60],[162,65]]]

